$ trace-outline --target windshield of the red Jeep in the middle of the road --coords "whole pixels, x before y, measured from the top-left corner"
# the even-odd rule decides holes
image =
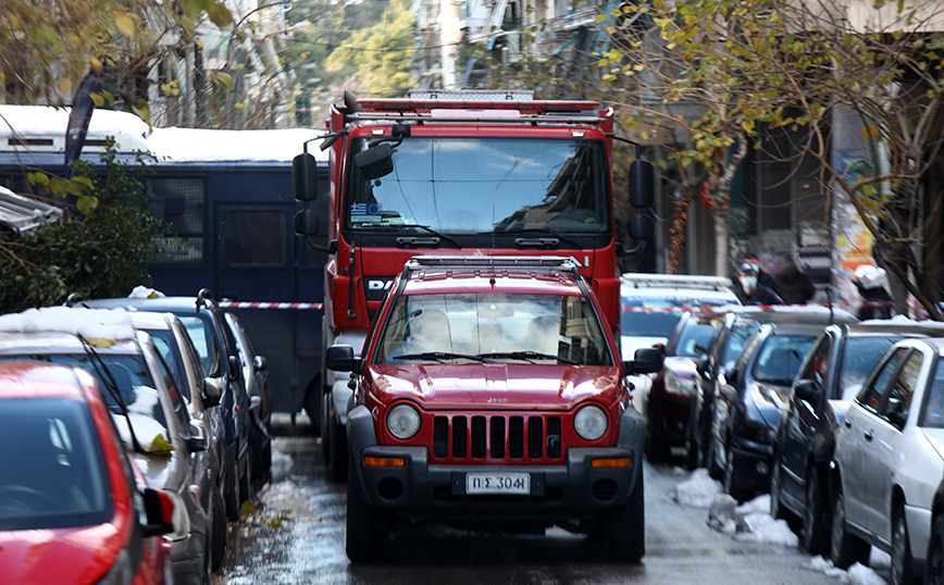
[[[587,299],[558,295],[403,295],[390,309],[375,363],[612,365]]]

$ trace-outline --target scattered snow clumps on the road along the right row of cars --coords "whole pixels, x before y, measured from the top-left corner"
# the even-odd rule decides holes
[[[712,480],[708,470],[697,469],[691,474],[679,473],[680,470],[673,470],[681,481],[673,486],[672,499],[682,506],[707,508],[708,525],[716,531],[729,534],[735,540],[798,546],[797,535],[790,530],[786,521],[774,520],[770,515],[770,495],[765,494],[737,506],[734,498],[721,493],[721,483]],[[890,561],[886,553],[872,549],[869,558],[872,568],[889,567]],[[813,557],[810,559],[810,569],[834,576],[844,585],[886,585],[885,580],[873,569],[859,563],[843,571],[833,567],[832,561]]]

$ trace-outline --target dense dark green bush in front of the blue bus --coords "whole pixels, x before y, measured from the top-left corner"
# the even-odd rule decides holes
[[[142,212],[146,158],[134,166],[115,158],[111,142],[104,175],[78,161],[96,206],[85,215],[40,228],[26,237],[0,237],[0,312],[61,303],[71,292],[85,298],[125,296],[150,284],[145,264],[161,249],[159,222]]]

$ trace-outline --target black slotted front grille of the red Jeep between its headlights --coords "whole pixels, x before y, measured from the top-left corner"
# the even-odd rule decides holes
[[[560,416],[439,415],[433,419],[433,458],[560,459]]]

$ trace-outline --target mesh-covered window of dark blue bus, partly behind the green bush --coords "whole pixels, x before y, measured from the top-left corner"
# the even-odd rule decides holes
[[[203,262],[206,185],[202,178],[148,178],[148,211],[175,237],[161,237],[167,264]]]

